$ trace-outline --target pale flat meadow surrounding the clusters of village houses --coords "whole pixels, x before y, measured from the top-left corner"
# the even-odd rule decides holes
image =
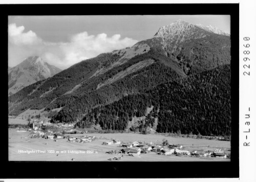
[[[90,143],[70,143],[67,139],[46,140],[43,138],[31,139],[30,131],[17,132],[9,128],[9,161],[108,161],[109,158],[121,156],[121,154],[107,154],[106,151],[120,150],[118,145],[101,145],[102,142],[117,139],[121,142],[153,142],[161,144],[163,139],[168,140],[169,144],[182,144],[184,150],[208,151],[222,149],[230,153],[230,142],[206,139],[174,138],[162,134],[138,134],[138,133],[90,133],[96,140]],[[25,129],[24,129],[25,130]],[[85,134],[70,134],[79,136]],[[18,150],[34,150],[45,153],[19,153]],[[66,153],[64,153],[66,151]],[[52,152],[52,153],[48,153]],[[59,152],[59,153],[58,153]],[[77,152],[77,153],[70,153]],[[230,161],[228,158],[216,157],[191,157],[176,155],[158,155],[155,152],[141,154],[134,157],[124,154],[120,161]]]

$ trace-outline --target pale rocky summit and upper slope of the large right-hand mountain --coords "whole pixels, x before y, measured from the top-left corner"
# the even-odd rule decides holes
[[[183,66],[186,75],[212,69],[230,60],[230,37],[215,34],[183,20],[161,27],[165,55]],[[223,40],[222,40],[223,38]],[[219,59],[219,54],[224,54]]]

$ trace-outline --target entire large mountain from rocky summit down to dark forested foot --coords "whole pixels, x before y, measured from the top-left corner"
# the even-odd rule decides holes
[[[225,126],[230,122],[228,115],[224,116],[231,109],[228,98],[230,59],[229,36],[177,20],[131,48],[81,61],[51,78],[23,88],[9,97],[9,115],[19,115],[29,108],[44,109],[52,122],[76,122],[77,127],[100,124],[104,129],[118,130],[129,128],[135,117],[145,119],[154,115],[154,122],[159,121],[155,129],[160,132],[172,130],[177,123],[179,127],[175,127],[183,133],[196,133],[205,127],[208,115],[220,114],[227,119],[210,118],[214,120],[214,127],[207,131],[216,134],[215,129],[222,126],[219,122]],[[227,71],[226,75],[223,70]],[[207,80],[214,83],[207,84]],[[168,87],[162,92],[164,84]],[[163,105],[165,100],[166,105]],[[217,101],[225,102],[225,111],[218,109]],[[165,108],[169,104],[177,108]],[[151,113],[152,108],[156,109],[154,113]],[[188,118],[182,114],[185,108]],[[166,112],[174,115],[172,121],[165,121]],[[194,122],[201,121],[204,125],[198,123],[194,128],[184,129],[188,126],[186,120],[193,117]]]

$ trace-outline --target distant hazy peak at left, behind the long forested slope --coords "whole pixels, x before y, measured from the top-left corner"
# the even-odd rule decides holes
[[[8,66],[8,93],[9,95],[15,94],[18,90],[39,80],[52,77],[60,71],[38,56],[28,57],[12,68]]]

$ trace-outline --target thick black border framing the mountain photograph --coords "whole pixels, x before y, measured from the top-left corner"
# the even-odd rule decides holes
[[[9,162],[8,15],[223,14],[231,19],[230,162]],[[0,5],[1,167],[0,178],[197,178],[239,177],[239,4],[51,4]],[[170,22],[171,23],[171,22]]]

